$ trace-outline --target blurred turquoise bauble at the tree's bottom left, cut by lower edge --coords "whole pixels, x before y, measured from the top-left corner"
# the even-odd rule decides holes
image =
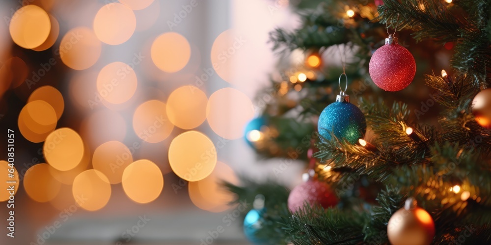
[[[264,215],[266,210],[264,209],[264,196],[256,196],[254,203],[254,208],[251,209],[244,219],[244,235],[246,235],[247,240],[252,244],[263,245],[268,244],[265,238],[258,238],[257,232],[263,228]]]

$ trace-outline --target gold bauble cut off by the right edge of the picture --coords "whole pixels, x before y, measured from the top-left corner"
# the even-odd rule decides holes
[[[485,89],[479,92],[472,100],[472,114],[476,117],[479,125],[491,127],[491,89]]]

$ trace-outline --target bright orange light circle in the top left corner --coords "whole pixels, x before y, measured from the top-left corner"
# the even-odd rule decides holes
[[[44,9],[27,5],[18,9],[10,20],[9,31],[14,43],[24,49],[42,45],[50,35],[50,17]]]

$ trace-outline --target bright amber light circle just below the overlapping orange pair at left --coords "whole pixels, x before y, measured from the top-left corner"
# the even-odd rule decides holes
[[[80,135],[71,128],[53,131],[43,145],[46,161],[60,171],[71,170],[82,161],[84,146]]]

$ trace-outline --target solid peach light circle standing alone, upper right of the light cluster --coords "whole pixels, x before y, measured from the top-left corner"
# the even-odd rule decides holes
[[[175,73],[188,64],[191,57],[191,46],[181,34],[167,32],[154,40],[150,56],[157,68],[166,73]]]

